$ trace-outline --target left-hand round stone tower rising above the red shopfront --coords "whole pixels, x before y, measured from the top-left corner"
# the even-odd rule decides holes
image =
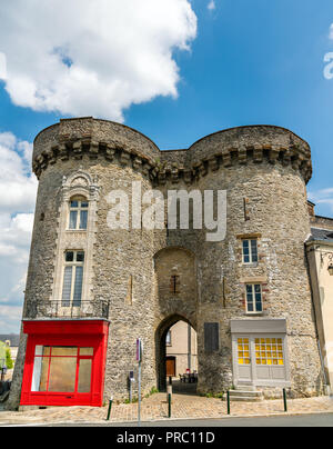
[[[153,236],[141,230],[141,222],[138,229],[112,229],[109,212],[119,201],[111,198],[112,192],[120,191],[128,196],[128,203],[118,204],[119,213],[132,216],[132,183],[142,194],[152,188],[158,156],[157,146],[140,132],[92,118],[61,120],[34,140],[32,163],[39,189],[23,311],[23,335],[31,345],[22,348],[21,357],[27,351],[33,359],[37,335],[44,337],[43,347],[53,345],[43,333],[44,323],[49,329],[54,326],[52,341],[59,337],[61,347],[70,347],[71,341],[95,346],[98,370],[104,372],[87,405],[101,405],[101,391],[104,397],[125,395],[129,372],[137,369],[137,338],[147,342],[145,357],[154,357],[149,343]],[[78,323],[82,326],[75,329]],[[102,330],[93,330],[95,323],[102,323]],[[84,342],[84,335],[94,331],[100,332],[98,343]],[[24,400],[30,403],[36,399],[26,390],[31,382],[28,377],[34,375],[24,371]],[[94,376],[92,371],[92,382]],[[147,363],[143,391],[154,383],[154,367]],[[37,395],[37,400],[48,398]]]

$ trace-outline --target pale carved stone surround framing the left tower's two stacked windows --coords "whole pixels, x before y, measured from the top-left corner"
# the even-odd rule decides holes
[[[62,181],[62,198],[59,210],[58,240],[53,276],[52,301],[61,301],[64,270],[64,253],[70,250],[84,252],[83,285],[81,301],[91,301],[92,291],[92,252],[97,231],[97,209],[99,200],[98,180],[87,172],[75,171]],[[89,202],[87,230],[68,229],[69,202],[73,197],[84,197]]]

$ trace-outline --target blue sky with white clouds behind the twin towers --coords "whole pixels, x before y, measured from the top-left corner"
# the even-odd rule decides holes
[[[1,332],[19,330],[37,187],[31,142],[60,118],[119,120],[161,149],[243,124],[289,128],[312,148],[316,213],[333,217],[332,0],[131,2],[98,0],[103,13],[88,0],[0,6]]]

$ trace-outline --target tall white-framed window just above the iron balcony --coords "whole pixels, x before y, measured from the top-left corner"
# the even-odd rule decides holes
[[[79,307],[82,300],[83,251],[65,251],[62,282],[62,307]]]

